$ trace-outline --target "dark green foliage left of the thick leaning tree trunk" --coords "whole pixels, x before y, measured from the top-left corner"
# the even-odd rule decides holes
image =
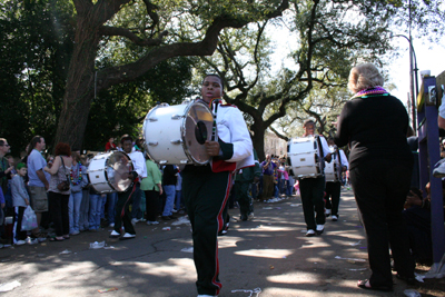
[[[0,3],[0,135],[14,156],[33,135],[53,139],[72,51],[70,11],[56,0]]]

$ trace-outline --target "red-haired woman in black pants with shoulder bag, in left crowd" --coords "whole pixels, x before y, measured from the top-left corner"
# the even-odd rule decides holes
[[[44,171],[51,175],[48,189],[48,198],[50,214],[55,224],[56,237],[52,241],[62,241],[69,239],[69,215],[68,202],[70,189],[59,190],[58,185],[69,179],[69,174],[72,166],[71,149],[68,143],[59,142],[55,150],[55,162],[52,167],[43,168]]]

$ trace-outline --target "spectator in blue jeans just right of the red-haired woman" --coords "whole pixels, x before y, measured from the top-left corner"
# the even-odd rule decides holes
[[[87,169],[80,161],[78,151],[71,152],[72,166],[70,170],[71,194],[68,202],[70,235],[78,235],[80,232],[79,217],[80,205],[82,202],[82,188],[87,186]]]

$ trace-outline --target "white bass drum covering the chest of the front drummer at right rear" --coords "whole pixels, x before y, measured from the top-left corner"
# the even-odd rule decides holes
[[[294,138],[287,147],[288,164],[291,176],[296,178],[317,178],[324,175],[323,164],[318,157],[318,137]]]

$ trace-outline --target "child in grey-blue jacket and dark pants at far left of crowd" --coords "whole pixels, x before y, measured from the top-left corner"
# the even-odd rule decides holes
[[[12,244],[21,246],[24,244],[37,244],[37,239],[27,238],[27,231],[21,230],[21,221],[23,219],[24,209],[29,206],[29,195],[24,187],[23,177],[27,175],[28,168],[24,164],[17,165],[17,175],[12,178],[11,192],[12,206],[14,210]]]

